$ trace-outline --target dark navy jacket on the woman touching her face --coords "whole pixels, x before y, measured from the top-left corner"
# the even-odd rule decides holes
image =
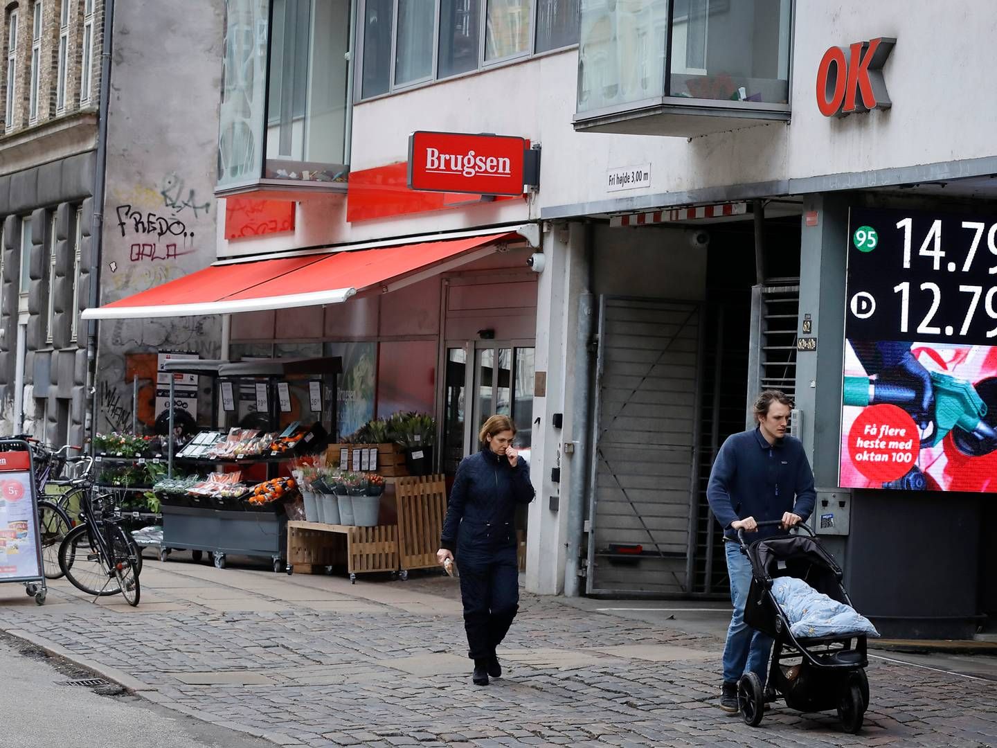
[[[515,467],[486,447],[457,469],[443,524],[440,548],[494,551],[515,547],[515,507],[533,501],[529,466]]]

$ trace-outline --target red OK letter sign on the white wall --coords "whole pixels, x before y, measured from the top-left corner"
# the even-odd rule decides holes
[[[825,117],[844,117],[892,105],[882,66],[895,39],[879,37],[848,48],[831,47],[817,69],[817,106]]]

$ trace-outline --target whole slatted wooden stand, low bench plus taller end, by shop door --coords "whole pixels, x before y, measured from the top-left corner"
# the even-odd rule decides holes
[[[395,485],[398,525],[359,528],[317,522],[287,523],[287,573],[331,572],[345,565],[350,581],[358,573],[435,568],[447,514],[444,476],[386,478]]]

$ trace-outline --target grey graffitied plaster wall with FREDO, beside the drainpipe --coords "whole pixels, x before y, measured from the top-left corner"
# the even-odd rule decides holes
[[[116,6],[102,303],[215,258],[223,11],[222,3],[201,0]],[[217,316],[101,323],[98,430],[131,428],[133,375],[140,417],[152,415],[158,350],[207,358],[217,357],[219,346]]]

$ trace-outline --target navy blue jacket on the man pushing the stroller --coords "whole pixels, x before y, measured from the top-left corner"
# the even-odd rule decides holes
[[[728,437],[720,448],[710,483],[706,487],[710,509],[724,528],[724,536],[737,539],[731,523],[754,517],[756,522],[782,520],[792,512],[807,520],[814,512],[814,472],[799,439],[786,436],[770,445],[760,429]],[[745,541],[785,535],[778,527],[746,533]]]

